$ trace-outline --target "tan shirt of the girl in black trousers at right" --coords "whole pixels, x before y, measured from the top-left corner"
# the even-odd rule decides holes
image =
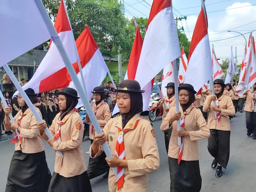
[[[234,116],[235,115],[235,107],[231,100],[231,98],[227,95],[222,94],[220,96],[219,100],[219,106],[221,109],[220,114],[220,122],[218,122],[218,119],[215,119],[215,112],[213,111],[213,101],[211,101],[211,105],[208,105],[208,100],[211,96],[207,96],[203,111],[207,112],[209,111],[207,126],[209,129],[217,129],[222,131],[230,131],[230,120],[229,115]]]

